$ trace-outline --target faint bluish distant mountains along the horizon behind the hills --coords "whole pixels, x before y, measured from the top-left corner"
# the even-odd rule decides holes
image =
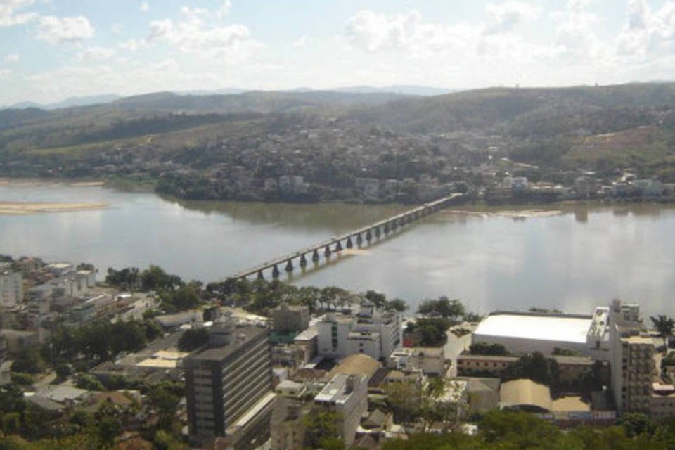
[[[280,93],[318,93],[318,92],[339,92],[342,94],[399,94],[406,96],[438,96],[442,94],[450,94],[451,92],[456,92],[461,89],[443,89],[430,86],[385,86],[385,87],[375,87],[375,86],[348,86],[348,87],[337,87],[334,89],[311,89],[311,88],[296,88],[296,89],[281,89],[278,91],[252,91],[250,89],[238,89],[238,88],[224,88],[224,89],[215,89],[215,90],[191,90],[191,91],[177,91],[172,92],[178,96],[214,96],[214,95],[238,95],[246,94],[249,92],[280,92]],[[153,94],[141,94],[136,96],[120,96],[118,94],[102,94],[98,96],[82,96],[82,97],[69,97],[65,100],[56,102],[56,103],[36,103],[32,101],[25,101],[20,103],[14,103],[12,105],[0,105],[0,110],[7,109],[25,109],[25,108],[39,108],[41,110],[58,110],[63,108],[71,108],[73,106],[88,106],[88,105],[102,105],[105,103],[111,103],[113,101],[120,100],[122,98],[142,98],[143,96],[152,96]]]

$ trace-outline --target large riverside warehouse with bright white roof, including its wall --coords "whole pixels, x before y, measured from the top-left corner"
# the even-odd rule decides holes
[[[550,355],[560,348],[589,355],[591,323],[592,316],[577,314],[495,312],[480,322],[471,341],[501,344],[513,354]]]

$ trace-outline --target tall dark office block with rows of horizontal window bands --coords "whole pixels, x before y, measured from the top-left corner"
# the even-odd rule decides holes
[[[219,438],[227,448],[247,450],[269,438],[275,394],[266,328],[219,319],[210,328],[208,345],[181,365],[191,442]]]

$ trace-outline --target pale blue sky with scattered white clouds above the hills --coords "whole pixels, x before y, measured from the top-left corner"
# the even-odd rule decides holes
[[[674,79],[675,0],[0,0],[0,105]]]

